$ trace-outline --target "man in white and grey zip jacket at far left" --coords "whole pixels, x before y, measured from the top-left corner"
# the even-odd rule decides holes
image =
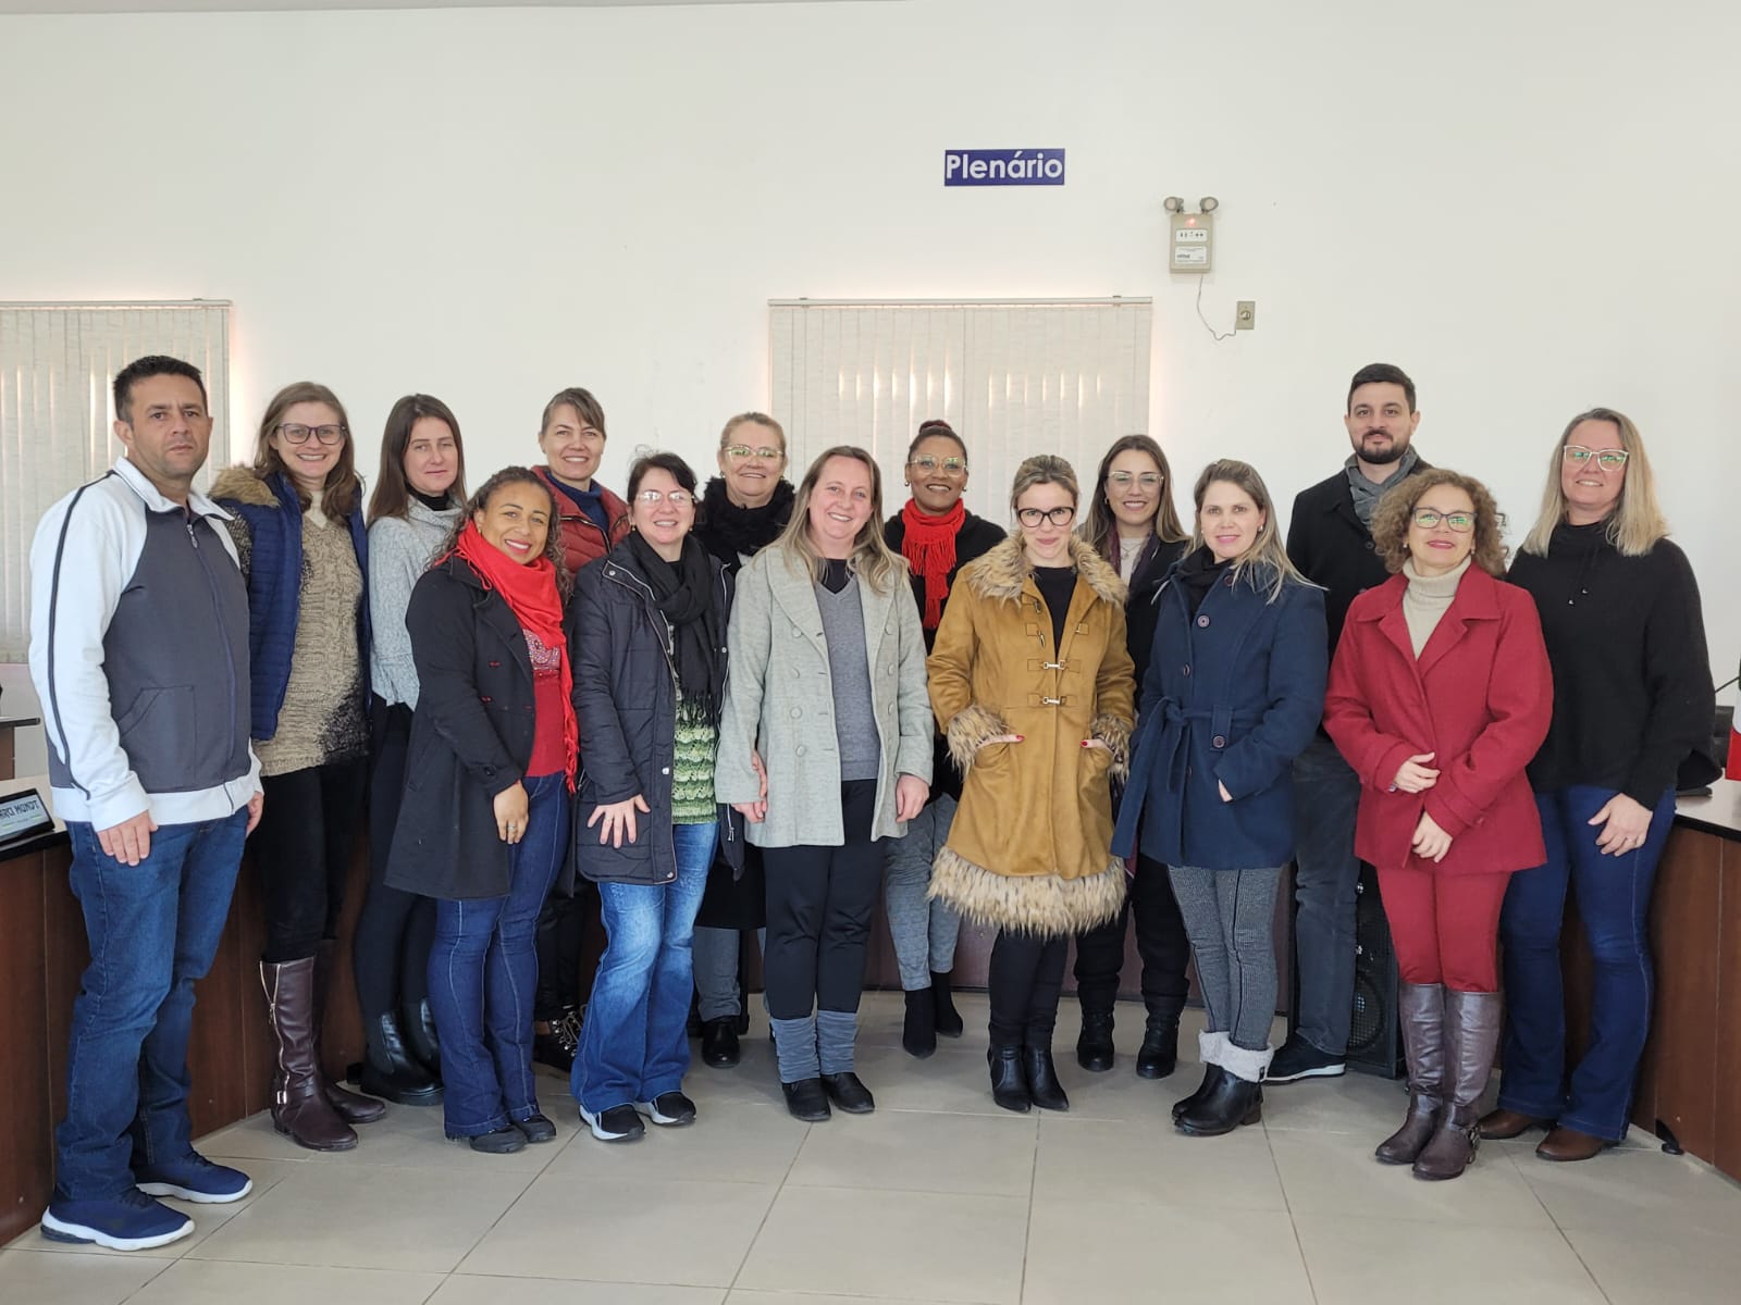
[[[138,1251],[193,1232],[155,1197],[252,1187],[193,1150],[188,1034],[261,786],[247,590],[223,510],[193,491],[212,432],[198,369],[139,358],[115,418],[125,456],[49,508],[30,550],[30,673],[91,941],[42,1232]]]

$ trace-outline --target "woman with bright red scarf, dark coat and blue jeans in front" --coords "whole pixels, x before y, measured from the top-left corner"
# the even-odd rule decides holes
[[[472,498],[406,611],[418,706],[387,884],[435,898],[447,1136],[493,1154],[555,1138],[533,1088],[531,999],[578,745],[557,550],[548,487],[510,466]]]

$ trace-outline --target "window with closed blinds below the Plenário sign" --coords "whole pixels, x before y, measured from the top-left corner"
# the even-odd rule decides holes
[[[883,468],[883,510],[905,501],[921,421],[966,440],[970,512],[1008,525],[1008,492],[1036,452],[1083,480],[1119,435],[1149,428],[1149,299],[770,303],[771,411],[790,475],[836,444]]]

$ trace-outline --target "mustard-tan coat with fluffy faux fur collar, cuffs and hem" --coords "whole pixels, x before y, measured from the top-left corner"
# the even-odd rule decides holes
[[[1112,919],[1125,867],[1111,853],[1111,778],[1130,753],[1135,682],[1125,585],[1071,539],[1076,592],[1064,640],[1018,538],[961,569],[926,663],[931,710],[966,776],[930,894],[978,924],[1038,934]],[[1020,743],[989,743],[1020,734]],[[1085,748],[1085,740],[1107,746]]]

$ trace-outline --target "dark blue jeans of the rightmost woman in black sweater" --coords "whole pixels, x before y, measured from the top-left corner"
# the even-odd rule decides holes
[[[1511,875],[1499,915],[1504,943],[1506,1041],[1499,1105],[1536,1119],[1619,1141],[1626,1136],[1638,1060],[1650,1032],[1650,887],[1675,823],[1675,793],[1650,813],[1644,846],[1603,856],[1600,828],[1586,823],[1614,797],[1610,788],[1572,786],[1537,793],[1548,861]],[[1560,924],[1570,886],[1595,962],[1590,1049],[1565,1077],[1565,990]]]

